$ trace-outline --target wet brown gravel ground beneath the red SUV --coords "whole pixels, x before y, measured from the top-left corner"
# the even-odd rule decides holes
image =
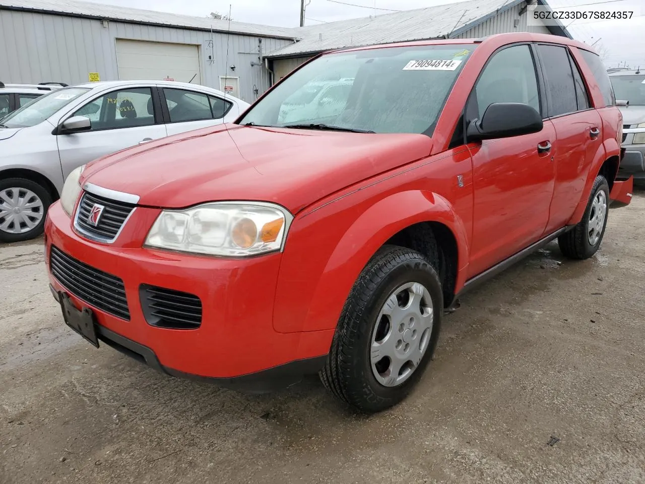
[[[66,328],[43,241],[0,247],[0,482],[644,483],[645,191],[600,252],[557,244],[462,300],[404,403],[317,378],[269,396],[173,379]]]

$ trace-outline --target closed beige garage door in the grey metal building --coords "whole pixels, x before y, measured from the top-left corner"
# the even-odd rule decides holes
[[[117,39],[117,66],[122,81],[170,78],[201,84],[196,45]]]

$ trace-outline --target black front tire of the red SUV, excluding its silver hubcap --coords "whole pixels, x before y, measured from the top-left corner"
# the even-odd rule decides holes
[[[379,383],[372,371],[372,332],[388,297],[409,282],[421,283],[432,299],[430,340],[410,377],[397,386],[387,387]],[[323,384],[360,412],[381,412],[396,405],[412,390],[432,359],[442,314],[441,282],[430,260],[415,250],[384,246],[362,270],[344,305],[329,357],[320,374]]]

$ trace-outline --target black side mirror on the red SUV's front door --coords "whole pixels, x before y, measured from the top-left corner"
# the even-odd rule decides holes
[[[506,138],[542,131],[542,116],[531,106],[522,103],[493,103],[486,109],[481,121],[475,119],[468,126],[466,139]]]

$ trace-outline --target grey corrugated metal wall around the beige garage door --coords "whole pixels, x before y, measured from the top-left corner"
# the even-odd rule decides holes
[[[178,42],[199,45],[203,84],[220,88],[219,76],[239,76],[240,96],[252,102],[270,86],[264,66],[251,66],[259,57],[259,37],[230,35],[228,63],[226,34],[181,28],[109,21],[107,28],[93,19],[0,10],[0,81],[72,84],[99,72],[101,81],[118,79],[115,39]],[[262,39],[263,52],[292,41]],[[208,60],[212,55],[213,60]],[[235,71],[229,66],[235,65]]]

